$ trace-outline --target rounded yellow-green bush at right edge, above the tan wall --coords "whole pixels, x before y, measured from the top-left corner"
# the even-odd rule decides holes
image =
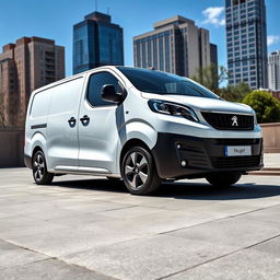
[[[280,102],[270,93],[265,91],[250,92],[243,100],[243,103],[255,109],[258,122],[280,121]]]

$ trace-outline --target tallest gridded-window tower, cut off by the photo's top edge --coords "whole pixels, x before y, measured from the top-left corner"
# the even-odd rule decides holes
[[[229,84],[267,88],[265,0],[225,0]]]

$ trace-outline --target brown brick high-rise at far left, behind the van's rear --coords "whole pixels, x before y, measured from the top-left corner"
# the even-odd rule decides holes
[[[0,125],[24,125],[32,91],[65,78],[65,48],[55,40],[22,37],[0,54]]]

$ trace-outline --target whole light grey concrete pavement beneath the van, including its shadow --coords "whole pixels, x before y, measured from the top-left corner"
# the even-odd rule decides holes
[[[244,176],[229,189],[203,179],[153,196],[122,183],[0,170],[4,279],[280,279],[280,180]]]

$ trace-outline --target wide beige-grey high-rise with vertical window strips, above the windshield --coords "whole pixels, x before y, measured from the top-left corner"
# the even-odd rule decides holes
[[[135,66],[190,77],[210,65],[209,31],[176,15],[133,37]]]

